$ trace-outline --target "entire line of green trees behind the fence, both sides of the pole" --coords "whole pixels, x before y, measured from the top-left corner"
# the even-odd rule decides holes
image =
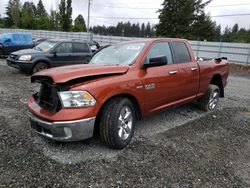
[[[212,21],[205,13],[211,0],[163,0],[159,12],[159,23],[119,22],[116,26],[93,26],[94,34],[127,37],[178,37],[200,41],[250,42],[250,29],[239,28],[238,24],[226,27]],[[48,13],[39,0],[35,5],[26,1],[9,0],[4,18],[0,15],[0,27],[42,29],[56,31],[85,32],[86,24],[82,15],[72,20],[72,0],[61,0],[58,10]]]

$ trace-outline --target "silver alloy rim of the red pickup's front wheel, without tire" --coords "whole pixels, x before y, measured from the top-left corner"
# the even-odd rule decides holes
[[[126,140],[132,130],[133,126],[133,114],[132,110],[128,106],[124,106],[121,109],[119,118],[118,118],[118,136],[121,140]]]

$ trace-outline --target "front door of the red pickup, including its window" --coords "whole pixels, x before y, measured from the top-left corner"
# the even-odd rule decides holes
[[[173,64],[172,52],[168,42],[154,44],[145,61],[150,58],[166,56],[168,63],[163,66],[150,67],[142,71],[145,90],[145,105],[148,112],[157,111],[177,100],[179,83],[178,66]]]

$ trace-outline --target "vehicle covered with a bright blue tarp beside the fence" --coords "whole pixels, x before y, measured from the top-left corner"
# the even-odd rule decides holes
[[[32,36],[27,33],[5,33],[0,35],[0,56],[27,48],[33,48]]]

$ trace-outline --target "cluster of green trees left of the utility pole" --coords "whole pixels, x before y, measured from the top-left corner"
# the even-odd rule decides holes
[[[50,10],[48,13],[39,0],[35,5],[26,1],[23,4],[20,0],[9,0],[4,18],[0,15],[0,27],[42,29],[56,31],[86,31],[86,24],[80,14],[72,21],[72,0],[61,0],[58,10]],[[73,22],[73,23],[72,23]]]

